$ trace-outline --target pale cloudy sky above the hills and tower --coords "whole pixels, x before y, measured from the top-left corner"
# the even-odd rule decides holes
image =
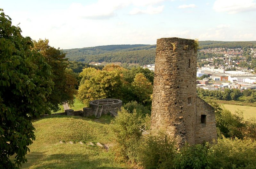
[[[23,36],[61,49],[156,39],[256,40],[256,0],[0,0]]]

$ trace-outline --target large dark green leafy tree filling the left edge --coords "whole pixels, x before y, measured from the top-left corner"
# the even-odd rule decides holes
[[[0,168],[27,162],[28,146],[35,140],[32,118],[49,113],[47,98],[53,87],[51,67],[40,53],[30,50],[33,42],[20,32],[1,12]]]

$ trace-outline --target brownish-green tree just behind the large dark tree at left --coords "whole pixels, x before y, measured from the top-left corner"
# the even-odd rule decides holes
[[[59,104],[68,103],[74,104],[74,95],[76,94],[75,86],[77,84],[74,74],[69,70],[68,62],[59,48],[49,46],[49,40],[39,39],[34,41],[33,50],[40,52],[46,59],[47,63],[52,67],[52,81],[54,82],[54,88],[48,100],[51,103],[51,110],[60,110]]]

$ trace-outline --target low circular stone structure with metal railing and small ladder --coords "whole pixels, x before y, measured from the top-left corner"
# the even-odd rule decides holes
[[[111,113],[111,115],[116,116],[117,110],[121,109],[123,101],[118,99],[98,99],[91,101],[89,104],[94,113],[96,113],[99,106],[99,109],[103,106],[102,114]]]

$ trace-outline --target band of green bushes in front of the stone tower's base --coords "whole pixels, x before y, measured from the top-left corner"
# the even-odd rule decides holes
[[[150,131],[150,135],[142,137],[139,127],[144,120],[136,109],[129,112],[123,108],[111,122],[116,160],[143,168],[256,167],[256,142],[250,138],[223,137],[218,143],[187,144],[178,150],[177,144],[164,132]]]

